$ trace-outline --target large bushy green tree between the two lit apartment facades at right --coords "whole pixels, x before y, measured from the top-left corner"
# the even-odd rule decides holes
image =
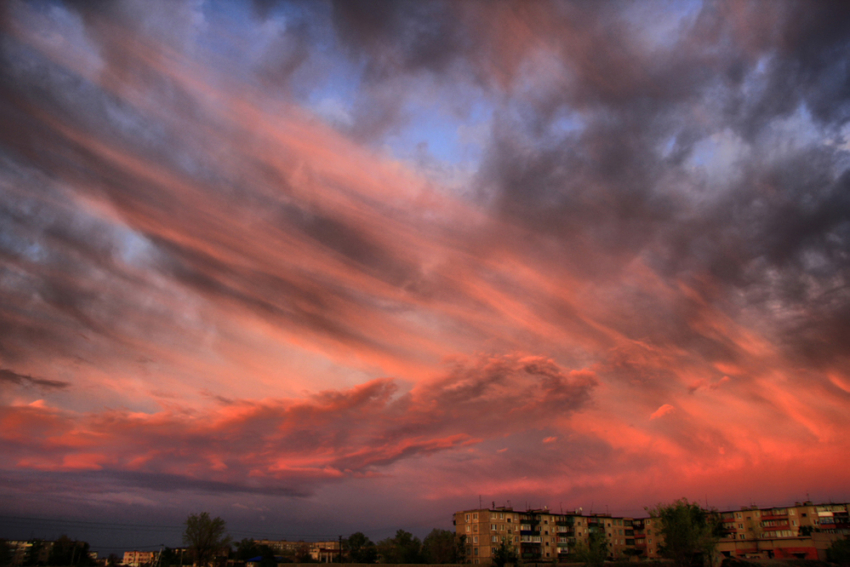
[[[702,566],[713,560],[722,532],[720,515],[716,511],[704,510],[699,504],[682,498],[668,506],[659,504],[648,512],[661,520],[660,535],[664,543],[659,551],[677,567]]]

